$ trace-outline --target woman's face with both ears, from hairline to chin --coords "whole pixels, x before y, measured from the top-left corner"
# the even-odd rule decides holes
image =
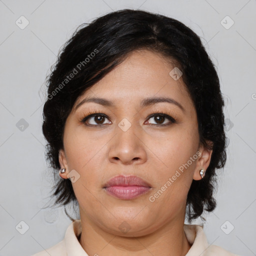
[[[173,68],[157,53],[134,51],[75,102],[59,161],[70,172],[61,176],[72,177],[82,220],[123,236],[145,235],[183,221],[190,184],[201,178],[199,170],[208,167],[211,151],[199,145],[196,111],[182,76],[169,74]],[[81,103],[85,98],[112,104]],[[81,121],[91,113],[99,114]],[[149,188],[105,189],[118,175],[140,177]],[[136,189],[144,192],[133,197],[109,193]]]

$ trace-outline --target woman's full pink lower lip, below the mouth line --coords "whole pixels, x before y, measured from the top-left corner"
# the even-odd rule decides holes
[[[142,195],[148,190],[150,190],[150,187],[146,186],[109,186],[105,187],[105,190],[110,195],[113,195],[117,198],[123,199],[123,200],[130,200],[133,198],[138,197],[139,195]]]

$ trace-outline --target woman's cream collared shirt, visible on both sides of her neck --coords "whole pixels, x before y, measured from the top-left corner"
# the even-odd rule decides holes
[[[184,224],[184,231],[192,244],[185,256],[238,256],[219,246],[209,245],[200,225]],[[76,219],[67,227],[63,240],[31,256],[88,256],[78,241],[80,233],[81,220]]]

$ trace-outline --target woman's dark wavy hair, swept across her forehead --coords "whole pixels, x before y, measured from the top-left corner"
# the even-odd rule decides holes
[[[187,194],[186,217],[191,222],[204,210],[210,212],[216,207],[216,169],[224,167],[226,161],[219,79],[198,35],[174,18],[142,10],[122,9],[79,25],[51,66],[42,124],[46,160],[54,170],[51,196],[56,197],[55,204],[77,203],[70,179],[58,175],[64,125],[76,99],[137,49],[160,53],[182,71],[197,113],[199,140],[212,149],[204,178],[192,180]]]

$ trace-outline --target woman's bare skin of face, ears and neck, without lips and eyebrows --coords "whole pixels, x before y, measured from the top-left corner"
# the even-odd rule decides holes
[[[183,230],[186,196],[192,180],[201,179],[199,170],[207,169],[212,151],[199,143],[196,111],[182,76],[174,80],[169,75],[172,68],[158,53],[133,51],[74,104],[85,97],[103,97],[115,106],[86,102],[73,108],[66,120],[64,148],[59,151],[61,168],[66,171],[60,175],[68,178],[73,169],[80,175],[72,186],[82,224],[79,242],[88,255],[175,256],[185,255],[191,247]],[[143,98],[156,96],[176,100],[184,111],[168,102],[140,107]],[[103,126],[80,121],[89,110],[108,116]],[[158,120],[157,115],[147,118],[157,112],[169,114],[176,122]],[[123,118],[131,124],[126,131],[118,126]],[[87,123],[100,124],[94,117]],[[200,156],[171,186],[149,201],[198,151]],[[152,188],[132,200],[113,197],[102,186],[119,174],[137,175]],[[123,221],[127,232],[118,228]]]

